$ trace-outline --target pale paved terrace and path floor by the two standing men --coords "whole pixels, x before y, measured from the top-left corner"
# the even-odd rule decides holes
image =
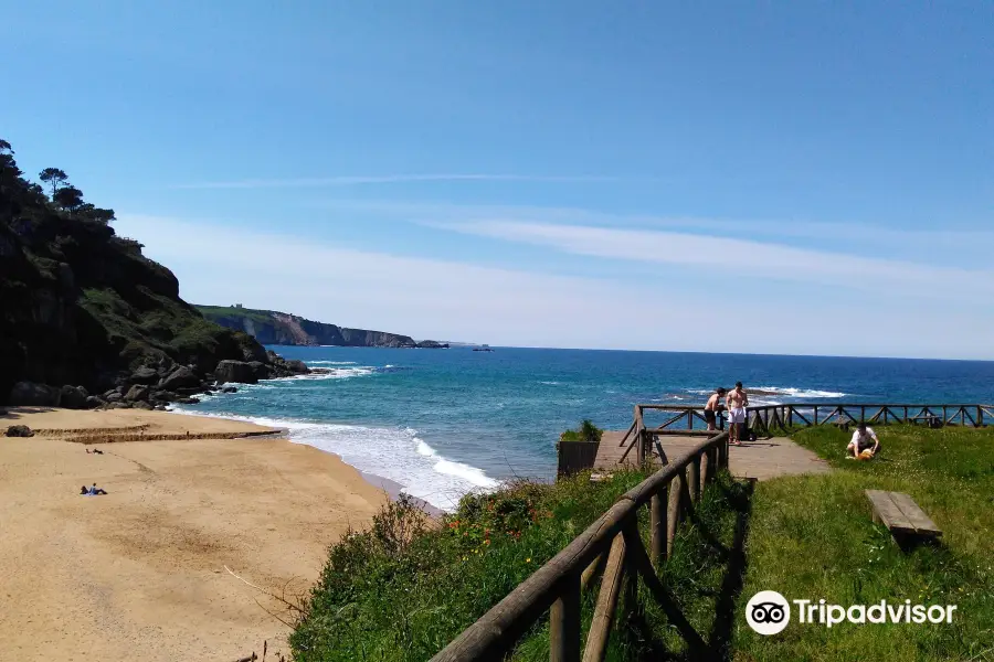
[[[624,435],[624,433],[604,433],[594,460],[594,471],[611,471],[618,467],[622,453],[626,449],[618,446]],[[659,437],[659,446],[667,457],[674,458],[687,452],[704,439],[704,437]],[[843,450],[839,449],[839,452]],[[653,448],[653,463],[662,465],[655,448]],[[625,458],[625,465],[635,465],[634,450]],[[828,463],[786,437],[773,437],[761,441],[743,441],[742,446],[730,446],[729,471],[739,478],[766,480],[778,476],[826,473]]]

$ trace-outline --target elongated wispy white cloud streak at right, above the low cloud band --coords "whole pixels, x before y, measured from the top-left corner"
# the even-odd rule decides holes
[[[930,301],[937,296],[969,299],[994,295],[994,271],[991,270],[940,267],[764,243],[747,238],[750,236],[748,227],[741,228],[739,234],[742,238],[739,238],[504,220],[427,225],[544,246],[573,255],[709,267],[742,281],[773,278],[817,282],[877,289],[881,295],[927,296]]]

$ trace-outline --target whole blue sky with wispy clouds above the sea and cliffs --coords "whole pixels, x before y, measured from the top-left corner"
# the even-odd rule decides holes
[[[0,138],[191,302],[994,359],[994,3],[23,3]]]

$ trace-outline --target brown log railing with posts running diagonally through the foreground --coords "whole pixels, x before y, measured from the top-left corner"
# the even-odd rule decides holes
[[[626,437],[646,436],[636,418]],[[643,447],[643,445],[634,445]],[[639,452],[644,453],[644,448]],[[644,455],[643,455],[644,457]],[[631,607],[641,578],[669,622],[691,650],[702,651],[701,636],[684,617],[655,565],[668,558],[681,521],[691,513],[717,471],[728,468],[728,435],[704,439],[625,492],[549,563],[469,626],[433,662],[501,660],[549,611],[549,659],[552,662],[600,662],[607,650],[612,622],[624,590]],[[638,532],[638,510],[649,506],[649,548]],[[593,621],[583,647],[581,594],[603,568]]]

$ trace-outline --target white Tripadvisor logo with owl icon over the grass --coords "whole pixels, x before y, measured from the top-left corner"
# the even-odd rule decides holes
[[[782,632],[791,622],[793,604],[796,622],[832,628],[843,622],[866,623],[951,623],[955,605],[912,605],[911,600],[875,605],[829,605],[825,600],[787,601],[775,590],[761,590],[745,605],[745,622],[760,634]]]

